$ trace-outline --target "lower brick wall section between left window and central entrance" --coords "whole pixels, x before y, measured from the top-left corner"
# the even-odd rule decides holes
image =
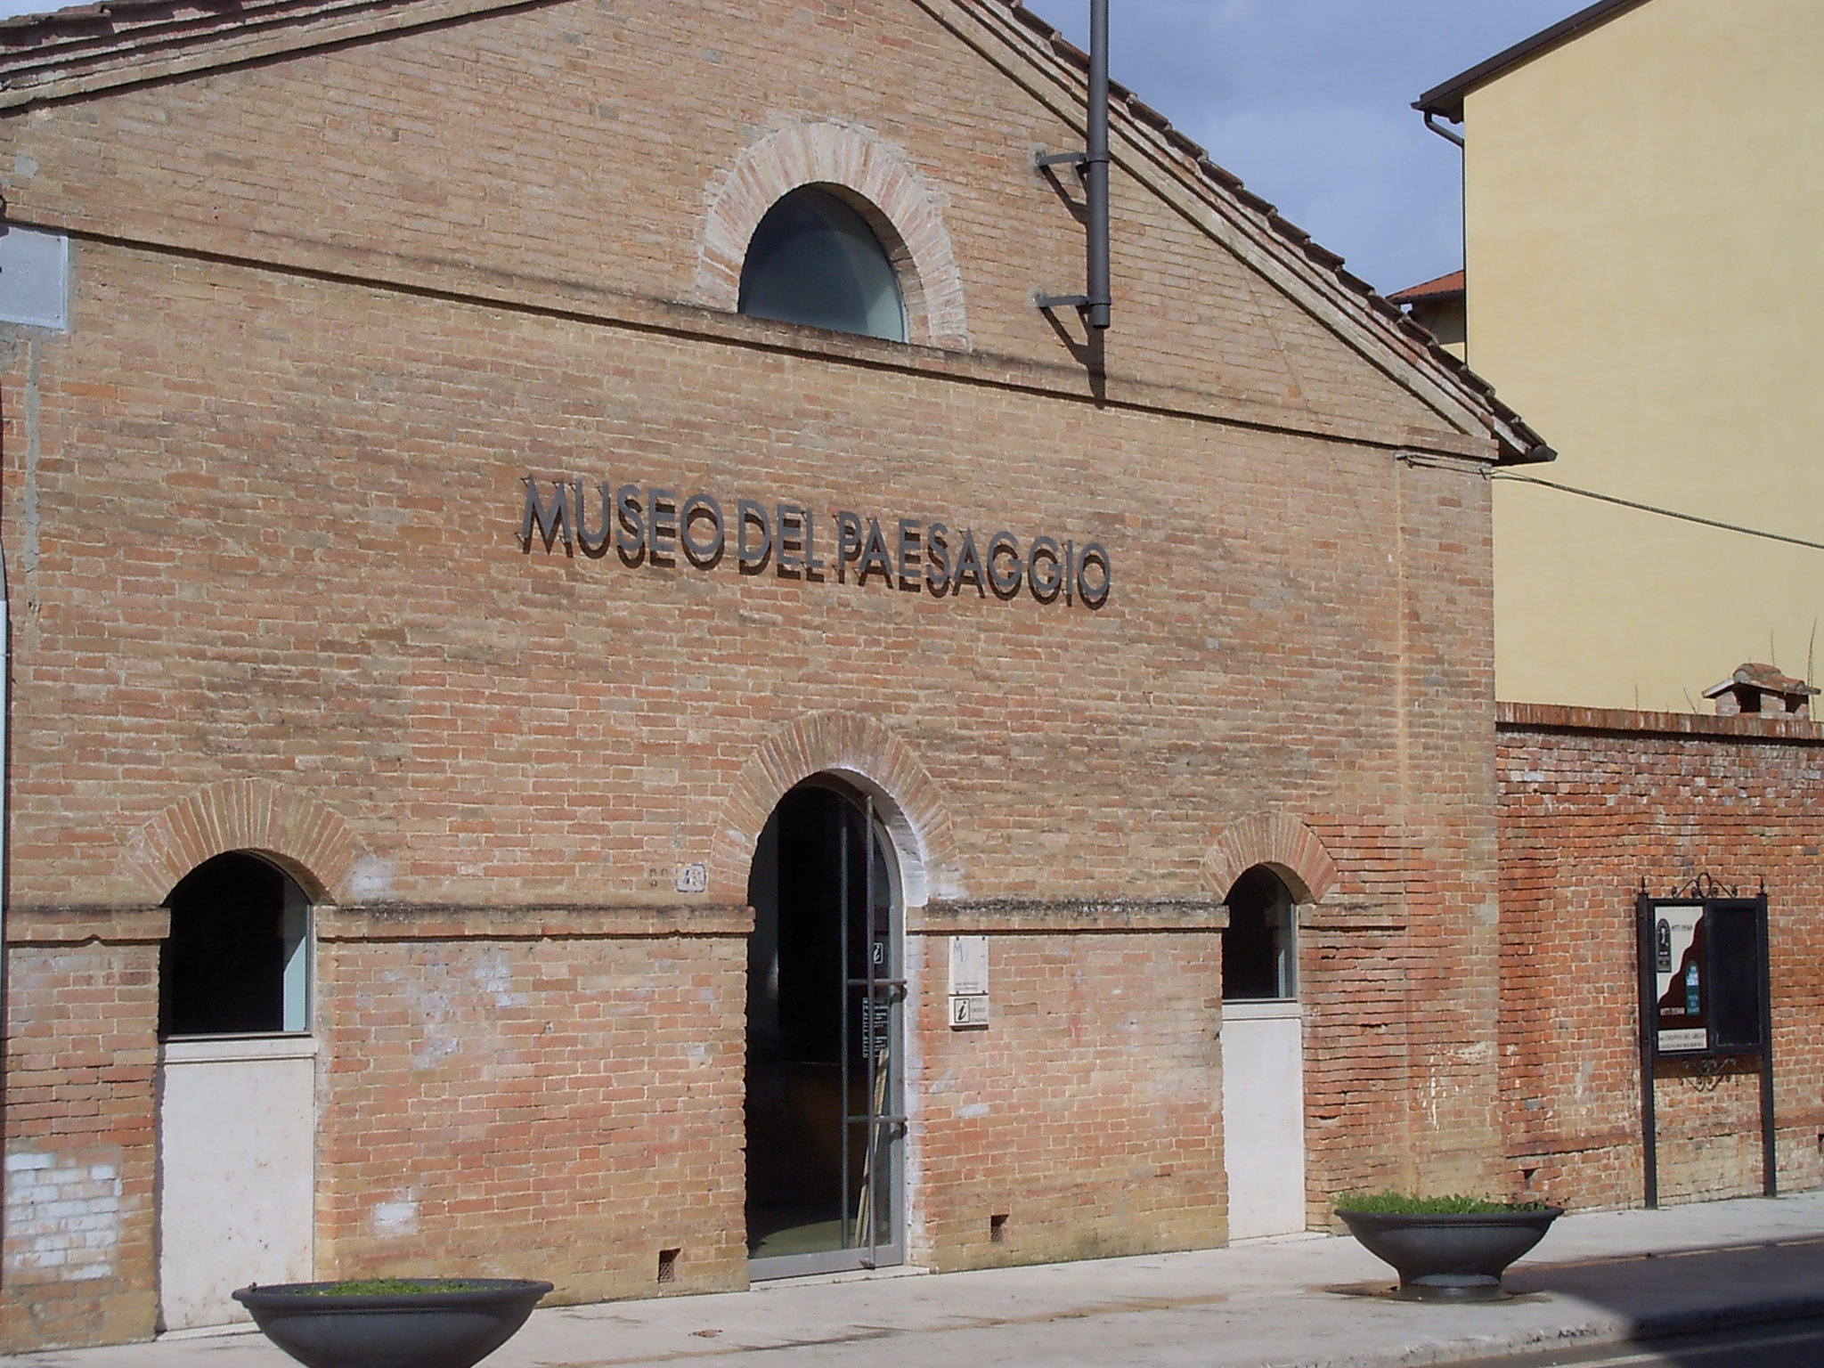
[[[540,932],[328,919],[319,1262],[602,1301],[682,1249],[673,1291],[744,1286],[744,943]]]

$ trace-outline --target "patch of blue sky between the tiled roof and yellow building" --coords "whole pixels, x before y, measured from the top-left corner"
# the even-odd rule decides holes
[[[1109,0],[1109,73],[1379,290],[1463,264],[1412,102],[1589,0]],[[1087,47],[1089,0],[1027,0]]]

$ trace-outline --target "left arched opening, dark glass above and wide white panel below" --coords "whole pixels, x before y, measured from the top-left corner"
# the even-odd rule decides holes
[[[246,1319],[248,1282],[314,1271],[310,899],[259,855],[204,861],[159,948],[159,1322]]]

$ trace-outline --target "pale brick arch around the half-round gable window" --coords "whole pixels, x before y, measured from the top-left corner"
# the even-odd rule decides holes
[[[837,190],[861,210],[899,272],[910,341],[969,350],[963,275],[938,197],[905,151],[850,124],[786,124],[742,150],[711,184],[697,252],[699,305],[735,312],[753,230],[799,186]]]

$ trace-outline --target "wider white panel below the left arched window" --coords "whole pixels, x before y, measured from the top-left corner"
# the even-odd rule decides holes
[[[159,1321],[246,1321],[228,1293],[314,1271],[310,1036],[173,1040],[161,1052]]]

